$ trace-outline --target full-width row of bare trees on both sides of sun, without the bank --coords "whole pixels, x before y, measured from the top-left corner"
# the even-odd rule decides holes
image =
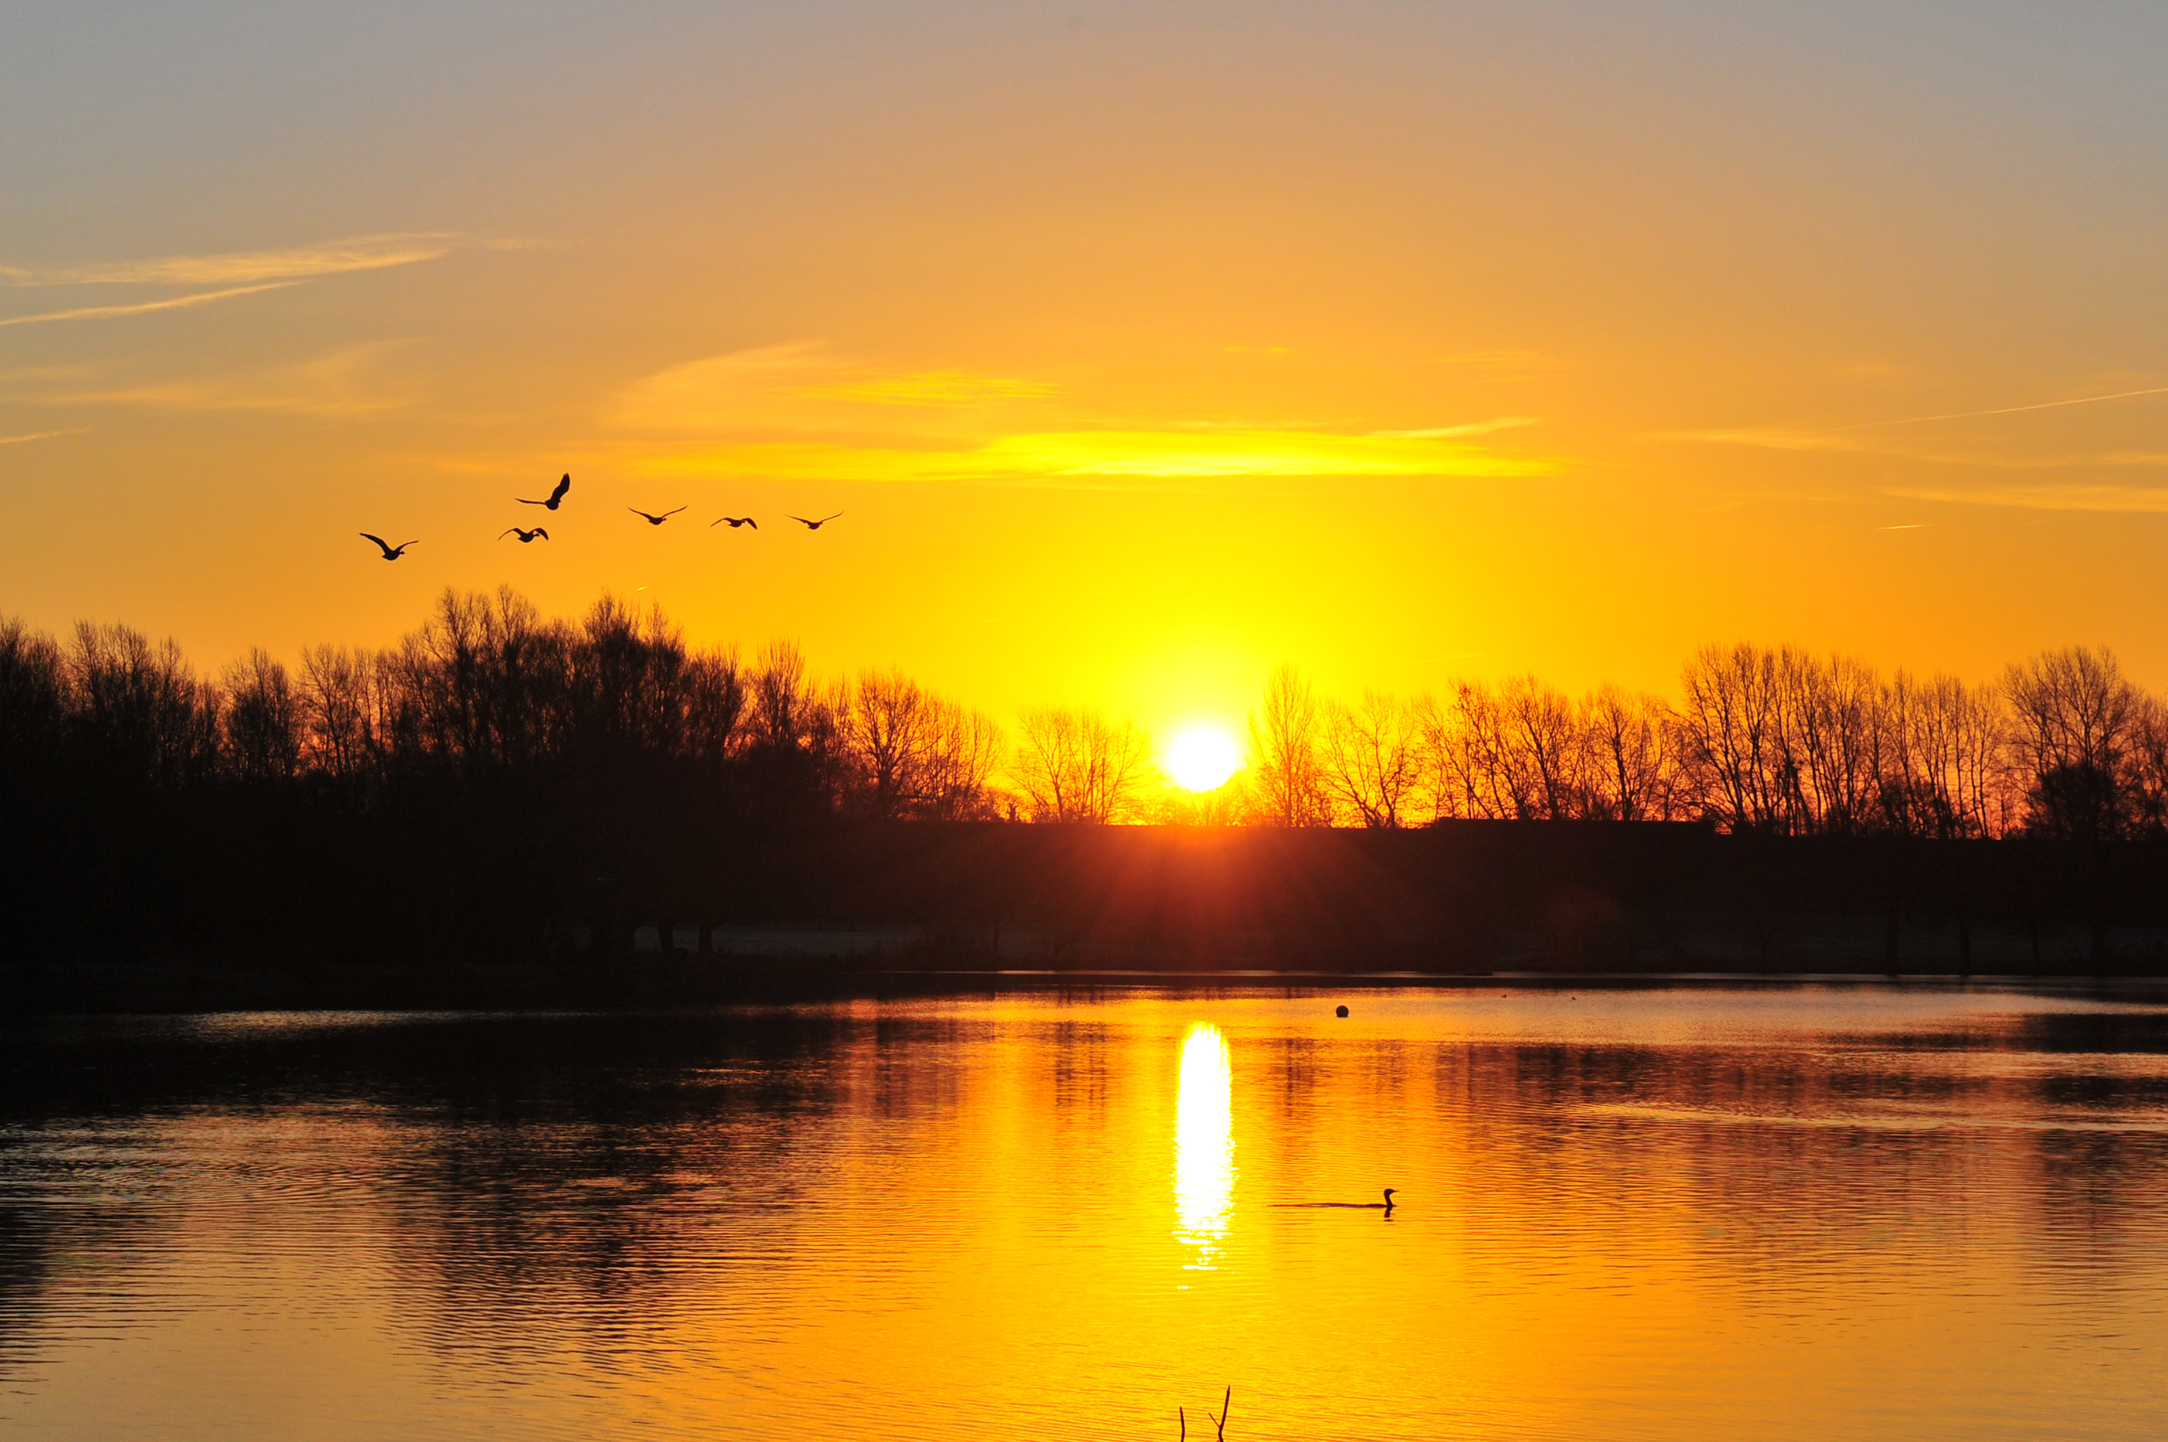
[[[1166,785],[1149,735],[1036,707],[1015,742],[895,670],[820,681],[793,644],[741,659],[603,596],[544,618],[505,588],[447,590],[397,644],[251,651],[215,681],[119,625],[67,642],[0,620],[0,787],[78,809],[284,796],[371,811],[527,783],[603,807],[698,800],[739,824],[843,820],[1234,822],[1702,820],[1771,835],[2114,841],[2168,833],[2168,705],[2107,651],[1999,683],[1880,674],[1795,646],[1711,646],[1676,703],[1535,677],[1320,698],[1292,668],[1221,791]],[[35,809],[35,807],[33,807]]]

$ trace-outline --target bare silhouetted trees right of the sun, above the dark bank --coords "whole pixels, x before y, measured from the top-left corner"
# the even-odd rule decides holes
[[[1251,815],[1277,826],[1702,820],[1732,833],[2114,841],[2168,835],[2168,705],[2070,646],[1997,685],[1882,677],[1795,646],[1708,646],[1680,703],[1518,677],[1318,700],[1273,672]]]

